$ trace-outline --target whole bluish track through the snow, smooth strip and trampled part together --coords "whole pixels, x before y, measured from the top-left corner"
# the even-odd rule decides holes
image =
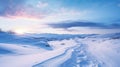
[[[74,48],[68,48],[63,54],[33,67],[101,67],[100,61],[87,52],[87,47],[78,42]]]

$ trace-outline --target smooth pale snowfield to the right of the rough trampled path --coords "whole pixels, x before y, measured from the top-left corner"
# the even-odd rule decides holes
[[[81,41],[102,67],[120,67],[120,39],[86,38]]]

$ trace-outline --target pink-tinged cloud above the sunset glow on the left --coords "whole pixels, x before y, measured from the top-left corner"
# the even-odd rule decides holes
[[[45,14],[42,12],[37,12],[33,8],[26,8],[26,7],[21,7],[17,9],[14,12],[7,11],[6,12],[6,17],[9,18],[34,18],[34,19],[39,19],[39,18],[44,18]]]

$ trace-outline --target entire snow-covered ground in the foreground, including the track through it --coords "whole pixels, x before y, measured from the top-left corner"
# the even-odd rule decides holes
[[[120,38],[104,36],[51,40],[44,47],[0,43],[0,67],[120,67]]]

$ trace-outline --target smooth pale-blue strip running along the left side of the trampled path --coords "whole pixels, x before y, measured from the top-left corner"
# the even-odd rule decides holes
[[[59,67],[62,63],[71,58],[73,48],[74,47],[68,48],[63,54],[36,64],[33,67]]]

